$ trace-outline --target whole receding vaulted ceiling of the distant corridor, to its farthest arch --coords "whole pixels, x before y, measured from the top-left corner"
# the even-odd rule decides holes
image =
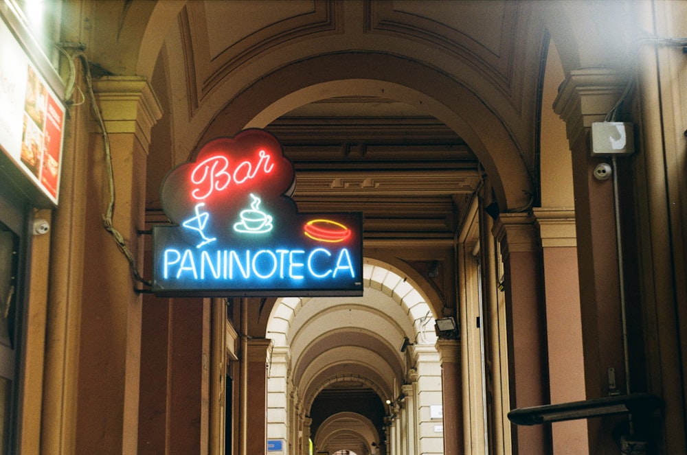
[[[289,353],[289,384],[313,419],[318,450],[368,454],[383,443],[385,401],[416,368],[414,346],[436,342],[426,297],[390,269],[365,264],[361,297],[285,298],[271,312],[267,338]]]

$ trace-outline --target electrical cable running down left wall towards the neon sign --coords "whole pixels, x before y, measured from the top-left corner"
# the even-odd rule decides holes
[[[138,267],[136,265],[136,259],[133,256],[133,253],[131,253],[131,250],[126,245],[126,240],[124,239],[124,236],[120,233],[120,231],[117,231],[117,229],[115,229],[115,226],[112,222],[112,217],[115,211],[115,177],[112,167],[110,138],[105,128],[105,122],[102,119],[102,113],[100,113],[100,108],[98,108],[98,103],[95,100],[95,93],[93,92],[93,80],[91,78],[91,67],[89,65],[89,60],[86,57],[86,54],[84,54],[83,52],[86,49],[86,46],[82,43],[59,43],[58,45],[56,45],[56,47],[62,54],[64,54],[67,57],[67,61],[69,62],[69,75],[67,78],[67,86],[65,87],[65,104],[67,104],[67,106],[78,106],[79,104],[83,104],[83,102],[85,102],[86,99],[86,95],[83,94],[81,89],[76,84],[76,65],[74,65],[74,60],[78,58],[80,59],[84,69],[84,80],[86,82],[88,100],[91,102],[91,108],[93,109],[95,120],[98,122],[98,126],[100,128],[100,132],[102,135],[109,191],[109,202],[104,215],[102,215],[102,223],[104,225],[105,230],[108,233],[110,233],[110,235],[112,235],[113,239],[115,240],[115,244],[117,244],[117,247],[120,249],[122,254],[124,254],[124,257],[126,257],[133,278],[139,283],[143,283],[144,285],[150,287],[152,283],[150,282],[150,280],[144,279],[139,274]],[[74,52],[74,54],[70,54],[69,51],[67,51],[67,49],[74,49],[76,50],[76,52]],[[71,97],[74,94],[75,87],[80,91],[80,93],[82,93],[82,97],[84,98],[84,100],[78,104],[70,102]]]

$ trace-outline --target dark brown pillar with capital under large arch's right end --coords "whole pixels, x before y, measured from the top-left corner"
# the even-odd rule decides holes
[[[528,213],[502,213],[494,237],[504,261],[510,406],[548,404],[541,250],[534,218]],[[544,425],[511,425],[511,429],[514,454],[551,453],[550,431]]]

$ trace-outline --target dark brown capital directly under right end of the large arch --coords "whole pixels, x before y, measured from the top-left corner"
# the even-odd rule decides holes
[[[539,249],[539,236],[534,229],[534,215],[529,212],[502,213],[491,230],[501,243],[502,255]]]

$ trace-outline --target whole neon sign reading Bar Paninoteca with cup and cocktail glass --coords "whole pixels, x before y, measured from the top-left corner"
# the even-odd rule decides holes
[[[153,292],[362,294],[361,213],[298,213],[293,166],[264,130],[207,143],[166,176],[153,229]]]

